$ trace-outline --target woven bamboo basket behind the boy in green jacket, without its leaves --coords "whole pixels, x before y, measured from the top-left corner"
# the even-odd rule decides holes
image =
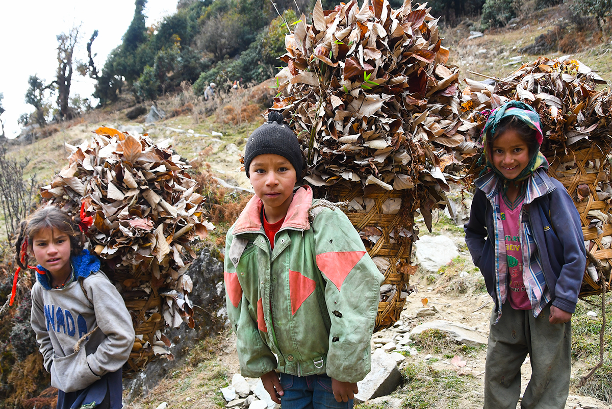
[[[374,332],[389,328],[400,318],[406,298],[412,292],[409,278],[417,269],[410,264],[414,226],[412,206],[415,203],[411,191],[383,190],[378,186],[362,189],[359,184],[336,184],[313,190],[317,198],[348,203],[346,216],[384,274]],[[373,236],[376,231],[379,237]]]

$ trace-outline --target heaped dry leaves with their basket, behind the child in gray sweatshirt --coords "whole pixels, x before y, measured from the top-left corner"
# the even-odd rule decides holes
[[[164,321],[193,328],[192,280],[185,272],[196,253],[189,243],[214,226],[204,220],[188,166],[170,146],[101,127],[91,141],[67,148],[68,164],[41,194],[81,219],[91,217],[89,249],[106,261],[102,269],[132,314],[129,364],[136,370],[168,354]]]

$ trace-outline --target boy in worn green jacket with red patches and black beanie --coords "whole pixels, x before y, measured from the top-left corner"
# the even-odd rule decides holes
[[[351,408],[370,372],[383,275],[348,217],[318,205],[283,116],[248,138],[255,196],[228,231],[225,290],[242,375],[283,409]],[[280,378],[278,376],[280,372]]]

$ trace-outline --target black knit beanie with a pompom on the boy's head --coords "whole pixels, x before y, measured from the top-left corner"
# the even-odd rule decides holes
[[[286,126],[283,114],[271,111],[268,121],[255,129],[248,137],[244,148],[244,170],[248,174],[248,167],[254,157],[263,154],[277,154],[285,157],[296,170],[297,181],[302,179],[302,149],[297,141],[296,134]]]

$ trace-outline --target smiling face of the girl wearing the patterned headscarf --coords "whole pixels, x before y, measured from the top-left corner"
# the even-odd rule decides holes
[[[529,163],[529,146],[514,129],[495,138],[491,148],[491,162],[506,179],[516,178]]]

